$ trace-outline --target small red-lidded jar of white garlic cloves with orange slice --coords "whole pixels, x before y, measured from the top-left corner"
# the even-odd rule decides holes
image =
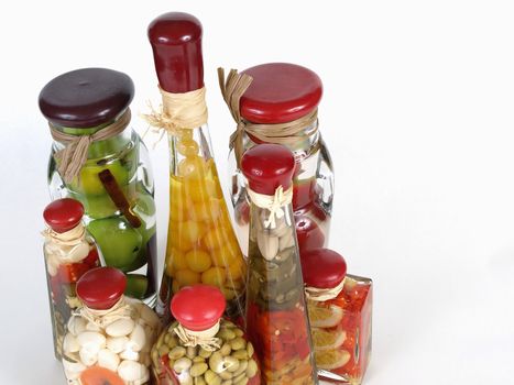
[[[161,323],[150,307],[123,296],[127,276],[114,267],[95,268],[78,280],[83,306],[63,341],[68,384],[150,384],[150,351]]]

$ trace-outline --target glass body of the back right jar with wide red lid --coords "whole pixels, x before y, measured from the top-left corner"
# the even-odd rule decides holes
[[[317,122],[316,122],[317,124]],[[306,128],[310,132],[313,128]],[[259,144],[243,134],[244,151]],[[287,146],[297,163],[293,179],[293,211],[295,215],[298,246],[302,250],[328,245],[333,198],[333,170],[330,154],[317,131],[305,141]],[[240,243],[248,245],[249,198],[247,180],[237,167],[233,151],[230,153],[231,199]],[[243,254],[248,251],[243,248]]]

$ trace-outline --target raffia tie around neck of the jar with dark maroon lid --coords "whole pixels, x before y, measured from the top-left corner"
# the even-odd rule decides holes
[[[57,151],[55,154],[58,161],[58,172],[64,182],[70,183],[75,177],[79,176],[80,168],[87,161],[87,152],[89,144],[92,142],[105,141],[121,133],[130,123],[130,108],[123,114],[109,125],[98,130],[90,135],[69,135],[50,123],[50,132],[52,138],[65,145],[63,150]]]

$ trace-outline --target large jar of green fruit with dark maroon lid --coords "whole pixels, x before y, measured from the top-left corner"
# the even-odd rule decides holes
[[[147,151],[129,127],[133,94],[129,76],[85,68],[51,80],[40,94],[40,108],[54,138],[48,165],[52,198],[70,197],[84,205],[87,229],[103,262],[127,274],[128,296],[153,307],[154,185]],[[67,154],[73,157],[69,163]],[[69,165],[81,154],[75,175],[68,175]]]

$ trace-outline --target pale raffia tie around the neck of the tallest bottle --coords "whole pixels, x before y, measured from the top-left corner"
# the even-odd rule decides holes
[[[156,110],[151,103],[150,113],[142,118],[150,128],[160,134],[157,140],[167,132],[177,135],[181,129],[196,129],[207,123],[207,105],[205,102],[205,87],[184,94],[171,94],[158,87],[163,97],[161,107]]]

